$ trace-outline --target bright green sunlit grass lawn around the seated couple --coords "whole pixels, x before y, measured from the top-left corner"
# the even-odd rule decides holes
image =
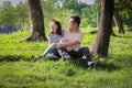
[[[92,29],[82,29],[82,46],[92,46]],[[95,29],[94,29],[95,30]],[[22,42],[29,32],[0,34],[0,88],[132,88],[132,32],[111,36],[109,56],[94,58],[95,68],[80,59],[53,61],[42,54],[47,42]]]

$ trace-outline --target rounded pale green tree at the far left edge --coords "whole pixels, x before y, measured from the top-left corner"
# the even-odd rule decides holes
[[[10,1],[4,1],[0,10],[0,25],[9,26],[16,25],[18,16],[15,13],[15,8],[11,4]]]

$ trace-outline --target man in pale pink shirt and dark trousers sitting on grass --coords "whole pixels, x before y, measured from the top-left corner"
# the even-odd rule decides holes
[[[58,54],[63,58],[69,58],[72,57],[82,57],[85,56],[87,66],[90,67],[94,65],[94,62],[91,62],[90,53],[88,47],[81,47],[80,43],[82,40],[82,32],[79,30],[80,24],[80,18],[77,15],[72,15],[69,19],[68,28],[67,30],[64,30],[63,38],[59,43],[57,43],[56,48],[58,51]],[[67,43],[62,43],[63,41],[66,41]]]

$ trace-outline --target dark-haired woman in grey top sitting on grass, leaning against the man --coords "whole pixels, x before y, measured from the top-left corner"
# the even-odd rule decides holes
[[[56,57],[54,55],[54,50],[56,47],[56,44],[62,38],[62,25],[58,21],[53,20],[51,23],[51,32],[48,33],[48,47],[44,51],[42,55],[37,55],[37,58],[41,58],[43,56]]]

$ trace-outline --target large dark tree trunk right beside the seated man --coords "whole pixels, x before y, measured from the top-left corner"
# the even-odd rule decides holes
[[[110,35],[112,30],[113,0],[101,0],[101,18],[96,42],[91,54],[99,57],[108,56]]]

